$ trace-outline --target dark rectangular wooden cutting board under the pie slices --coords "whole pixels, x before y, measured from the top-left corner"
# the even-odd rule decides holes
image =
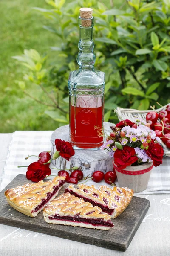
[[[125,251],[139,228],[150,201],[145,198],[133,197],[129,206],[113,219],[114,227],[110,230],[95,230],[83,227],[71,227],[57,224],[48,224],[44,221],[42,212],[31,218],[13,209],[6,201],[4,192],[28,183],[25,175],[17,175],[11,183],[0,193],[0,223],[26,230],[40,232],[51,236],[58,236],[85,244],[94,244],[112,250]],[[31,183],[31,181],[29,181]],[[59,194],[62,194],[68,183],[65,183]],[[10,209],[10,211],[9,211]]]

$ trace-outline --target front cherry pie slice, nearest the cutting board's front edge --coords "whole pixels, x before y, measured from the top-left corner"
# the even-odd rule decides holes
[[[111,216],[102,210],[70,193],[64,193],[51,201],[43,211],[48,223],[74,227],[109,230],[113,227]]]

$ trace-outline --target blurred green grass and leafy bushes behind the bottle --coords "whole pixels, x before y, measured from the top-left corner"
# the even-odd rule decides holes
[[[170,102],[170,0],[1,5],[0,132],[68,123],[67,81],[77,68],[80,7],[94,9],[96,68],[106,73],[105,120],[116,122],[117,106],[142,110]]]

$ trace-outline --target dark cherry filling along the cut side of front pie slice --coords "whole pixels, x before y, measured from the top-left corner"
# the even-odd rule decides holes
[[[90,213],[88,213],[90,214]],[[55,214],[54,216],[48,217],[50,220],[60,220],[60,221],[71,221],[71,222],[83,222],[85,224],[91,224],[93,226],[107,226],[113,227],[113,223],[111,220],[105,221],[102,218],[94,219],[94,218],[81,218],[79,214],[75,216],[60,216]]]

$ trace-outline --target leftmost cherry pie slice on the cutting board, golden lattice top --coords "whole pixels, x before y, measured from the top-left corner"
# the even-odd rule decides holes
[[[5,196],[11,207],[25,215],[36,217],[58,195],[64,180],[65,177],[57,176],[47,182],[41,180],[38,183],[27,183],[6,190]]]

